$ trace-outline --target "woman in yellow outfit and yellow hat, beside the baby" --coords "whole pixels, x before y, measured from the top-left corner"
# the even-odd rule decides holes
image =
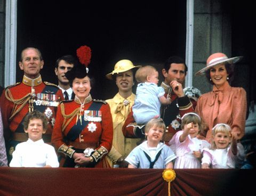
[[[134,85],[134,70],[141,66],[134,66],[130,60],[120,60],[115,64],[114,70],[106,77],[115,80],[118,93],[113,99],[106,100],[110,106],[113,118],[113,144],[107,156],[111,167],[126,167],[125,157],[137,146],[139,139],[125,138],[122,127],[127,115],[134,104],[135,94],[132,93]]]

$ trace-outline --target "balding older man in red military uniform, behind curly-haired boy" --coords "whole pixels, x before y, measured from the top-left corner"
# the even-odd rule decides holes
[[[15,146],[28,140],[22,125],[28,112],[38,110],[45,113],[49,123],[43,139],[51,142],[55,112],[63,95],[58,86],[42,81],[40,71],[43,66],[41,52],[34,47],[25,48],[19,61],[19,67],[24,72],[22,82],[6,87],[1,95],[0,106],[9,162]]]

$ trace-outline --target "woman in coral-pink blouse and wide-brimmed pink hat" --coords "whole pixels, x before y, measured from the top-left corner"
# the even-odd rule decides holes
[[[201,95],[197,101],[196,112],[202,117],[205,127],[201,135],[206,141],[212,140],[212,128],[225,123],[236,133],[238,140],[244,136],[246,120],[246,92],[242,87],[231,87],[234,63],[242,56],[228,58],[223,53],[214,53],[207,59],[207,66],[196,73],[205,74],[213,85],[209,93]]]

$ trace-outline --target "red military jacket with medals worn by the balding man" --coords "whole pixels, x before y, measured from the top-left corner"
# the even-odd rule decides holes
[[[62,92],[57,85],[43,82],[41,76],[34,80],[24,76],[22,83],[6,87],[0,98],[5,136],[10,136],[10,131],[24,133],[23,125],[21,123],[23,118],[29,112],[31,81],[35,83],[35,96],[33,101],[34,110],[37,109],[42,113],[45,113],[49,120],[46,134],[52,133],[52,128],[55,122],[55,112],[57,111],[59,101],[63,100]],[[38,104],[38,101],[41,103]],[[52,106],[53,104],[55,106]]]

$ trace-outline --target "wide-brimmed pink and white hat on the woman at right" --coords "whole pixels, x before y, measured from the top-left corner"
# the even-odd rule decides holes
[[[201,69],[200,71],[196,72],[196,75],[203,75],[205,74],[205,71],[210,69],[213,66],[216,66],[217,64],[223,63],[223,64],[234,64],[241,60],[243,56],[236,56],[233,58],[228,58],[226,54],[224,53],[214,53],[206,61],[206,67]]]

